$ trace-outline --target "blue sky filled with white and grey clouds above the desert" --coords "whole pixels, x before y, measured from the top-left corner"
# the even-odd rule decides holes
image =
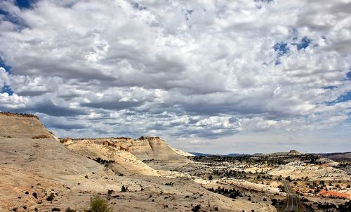
[[[351,1],[0,1],[0,111],[189,152],[351,151]]]

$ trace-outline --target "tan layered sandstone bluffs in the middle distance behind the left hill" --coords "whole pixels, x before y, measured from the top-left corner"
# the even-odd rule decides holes
[[[131,138],[62,138],[60,143],[69,150],[91,159],[110,161],[107,165],[115,173],[159,176],[159,172],[143,161],[159,161],[166,164],[190,162],[176,153],[159,137]],[[168,168],[169,169],[169,168]]]

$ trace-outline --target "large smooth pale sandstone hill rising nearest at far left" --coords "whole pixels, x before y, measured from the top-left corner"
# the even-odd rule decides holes
[[[95,173],[105,179],[114,175],[97,162],[67,150],[34,116],[0,113],[0,147],[0,211],[48,211],[51,203],[45,199],[53,190],[90,189],[87,185],[101,184],[85,176]],[[110,187],[109,183],[105,186]],[[119,185],[114,187],[119,189]],[[37,204],[41,199],[42,204]]]

